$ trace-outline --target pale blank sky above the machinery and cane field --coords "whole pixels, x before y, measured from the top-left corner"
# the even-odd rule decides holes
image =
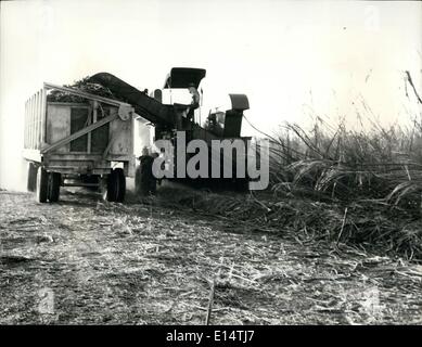
[[[245,93],[247,119],[273,134],[311,116],[383,123],[419,112],[422,2],[85,0],[0,2],[0,188],[20,190],[24,102],[43,81],[108,72],[143,90],[174,66],[207,69],[204,108]],[[243,123],[243,136],[256,131]]]

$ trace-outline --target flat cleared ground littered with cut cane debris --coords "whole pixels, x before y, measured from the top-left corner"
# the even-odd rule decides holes
[[[421,324],[422,266],[189,208],[0,192],[0,324]],[[240,230],[242,230],[240,232]]]

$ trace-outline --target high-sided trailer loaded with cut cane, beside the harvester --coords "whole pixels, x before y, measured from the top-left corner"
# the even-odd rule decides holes
[[[50,102],[51,90],[80,102]],[[43,83],[25,103],[28,190],[39,203],[56,202],[60,188],[72,185],[100,189],[105,200],[123,202],[126,177],[135,175],[132,116],[128,103]]]

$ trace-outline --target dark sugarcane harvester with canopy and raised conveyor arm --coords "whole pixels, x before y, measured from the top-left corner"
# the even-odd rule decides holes
[[[117,77],[110,74],[97,74],[90,78],[91,81],[97,82],[101,86],[106,87],[111,92],[123,100],[131,104],[135,108],[135,113],[140,118],[149,121],[149,125],[154,127],[154,140],[170,140],[175,144],[175,153],[177,141],[177,133],[183,132],[186,142],[191,140],[203,140],[210,146],[213,140],[225,139],[228,141],[238,139],[245,143],[251,138],[241,137],[241,126],[243,112],[250,108],[247,97],[244,94],[229,94],[231,101],[231,110],[226,112],[209,112],[205,127],[202,127],[195,119],[195,110],[200,107],[200,101],[202,99],[202,91],[199,91],[201,80],[205,77],[206,70],[202,68],[187,68],[187,67],[174,67],[165,79],[163,89],[154,90],[150,97],[145,92],[141,92],[135,87],[126,83]],[[192,95],[190,103],[177,103],[171,100],[171,93],[175,91],[189,90]],[[165,97],[170,95],[165,100]],[[196,117],[197,118],[197,117]],[[144,123],[143,123],[144,124]],[[141,125],[142,127],[143,125]],[[212,156],[209,153],[209,165],[212,167]],[[155,153],[157,155],[157,153]],[[186,158],[181,165],[186,165],[190,156],[193,154],[186,154]],[[151,175],[151,163],[154,153],[143,153],[140,157],[140,166],[137,167],[136,171],[136,185],[141,194],[152,193],[155,190],[155,179]],[[238,158],[239,159],[239,158]],[[242,160],[247,160],[247,156],[244,155]],[[222,171],[221,156],[221,171]],[[180,164],[179,160],[177,165]],[[145,166],[142,167],[142,164]],[[177,170],[177,165],[174,169]],[[236,167],[235,158],[232,159],[233,172]],[[221,172],[219,179],[210,178],[174,178],[172,180],[187,182],[191,185],[204,187],[210,185],[213,188],[223,189],[247,189],[248,178],[223,178]]]

